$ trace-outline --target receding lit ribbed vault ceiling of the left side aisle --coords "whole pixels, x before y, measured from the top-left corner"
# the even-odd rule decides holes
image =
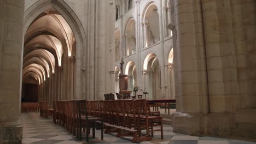
[[[23,80],[33,77],[40,85],[61,67],[63,57],[71,56],[74,43],[67,21],[54,9],[44,11],[25,34]]]

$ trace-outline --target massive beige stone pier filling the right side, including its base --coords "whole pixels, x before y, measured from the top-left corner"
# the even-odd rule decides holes
[[[175,132],[255,138],[255,4],[174,1]]]

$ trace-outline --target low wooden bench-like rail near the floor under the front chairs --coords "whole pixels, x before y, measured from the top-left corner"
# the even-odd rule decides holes
[[[111,129],[114,128],[114,129]],[[126,131],[127,133],[122,133],[122,131]],[[112,124],[105,124],[105,134],[107,133],[114,133],[117,132],[117,137],[121,136],[133,136],[132,142],[139,142],[139,141],[150,141],[152,140],[151,136],[146,137],[138,137],[138,131],[135,129],[120,127],[118,125]]]

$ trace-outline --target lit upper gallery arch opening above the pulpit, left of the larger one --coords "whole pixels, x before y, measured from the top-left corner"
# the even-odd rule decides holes
[[[136,52],[136,22],[135,19],[133,19],[133,17],[130,17],[130,19],[128,19],[126,22],[124,37],[124,56],[132,55]]]

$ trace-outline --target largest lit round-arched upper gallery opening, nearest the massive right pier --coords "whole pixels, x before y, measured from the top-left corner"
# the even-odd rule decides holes
[[[147,4],[143,11],[143,40],[144,47],[152,46],[160,40],[159,8],[154,2]]]

